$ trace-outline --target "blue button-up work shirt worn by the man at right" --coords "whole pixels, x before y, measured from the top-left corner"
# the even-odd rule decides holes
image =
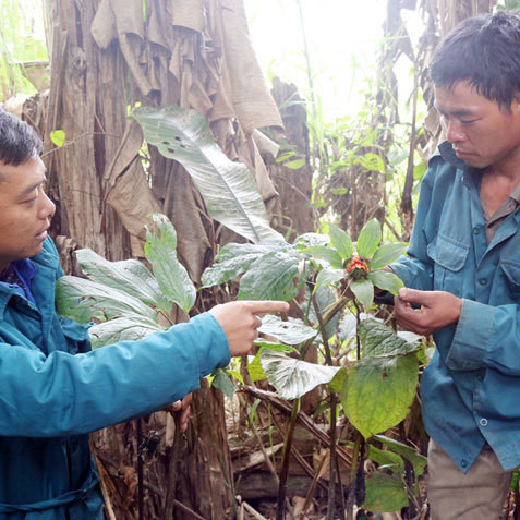
[[[520,464],[520,206],[487,244],[482,173],[452,160],[449,144],[440,150],[421,185],[409,257],[391,265],[407,287],[463,302],[459,322],[434,334],[423,421],[463,472],[485,442],[508,470]]]

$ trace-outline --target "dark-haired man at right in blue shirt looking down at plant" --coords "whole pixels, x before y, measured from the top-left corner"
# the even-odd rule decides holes
[[[520,19],[463,21],[431,76],[447,142],[428,164],[398,323],[434,335],[421,382],[433,519],[498,519],[520,464]],[[414,305],[412,305],[414,304]]]

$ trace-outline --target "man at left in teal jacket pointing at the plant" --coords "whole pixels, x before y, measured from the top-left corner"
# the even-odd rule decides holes
[[[88,327],[55,311],[62,271],[47,237],[55,205],[40,149],[28,125],[0,110],[0,519],[101,519],[88,432],[186,396],[250,350],[258,313],[288,304],[217,305],[90,351]]]

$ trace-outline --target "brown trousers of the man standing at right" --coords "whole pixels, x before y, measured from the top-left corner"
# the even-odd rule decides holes
[[[501,520],[512,471],[486,445],[468,473],[435,443],[428,445],[427,495],[432,520]]]

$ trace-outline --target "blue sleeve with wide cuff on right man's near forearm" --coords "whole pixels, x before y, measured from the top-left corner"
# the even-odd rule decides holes
[[[446,365],[459,371],[489,367],[520,376],[520,306],[462,300]]]

